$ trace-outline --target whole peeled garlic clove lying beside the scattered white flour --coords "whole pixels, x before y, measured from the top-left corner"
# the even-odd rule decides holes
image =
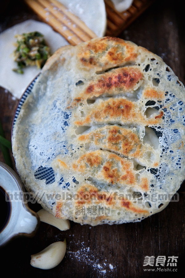
[[[66,253],[66,240],[57,241],[37,254],[31,255],[30,264],[40,269],[51,269],[56,267],[64,258]]]

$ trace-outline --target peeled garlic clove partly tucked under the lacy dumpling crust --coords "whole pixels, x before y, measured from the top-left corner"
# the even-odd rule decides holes
[[[44,208],[40,209],[37,214],[39,215],[40,221],[55,226],[61,231],[66,231],[70,229],[69,220],[56,218],[51,213],[48,213]]]

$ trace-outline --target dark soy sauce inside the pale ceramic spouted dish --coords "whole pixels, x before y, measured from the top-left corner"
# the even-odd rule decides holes
[[[0,232],[5,228],[11,214],[11,202],[8,194],[0,186]]]

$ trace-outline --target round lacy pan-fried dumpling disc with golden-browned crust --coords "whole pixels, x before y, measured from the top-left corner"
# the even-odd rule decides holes
[[[13,128],[26,189],[55,217],[80,224],[158,213],[185,179],[184,101],[173,71],[130,41],[59,48]]]

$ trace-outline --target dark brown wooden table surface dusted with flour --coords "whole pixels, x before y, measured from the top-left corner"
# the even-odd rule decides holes
[[[7,4],[7,5],[6,5]],[[21,1],[4,1],[0,32],[26,19],[38,19]],[[0,4],[2,9],[2,4]],[[0,10],[1,11],[1,10]],[[158,54],[185,84],[184,13],[180,1],[156,0],[119,37]],[[18,99],[0,87],[0,119],[10,140],[11,122]],[[10,153],[11,155],[11,153]],[[0,153],[0,161],[3,161]],[[13,157],[12,157],[13,161]],[[14,164],[13,164],[14,165]],[[14,168],[15,170],[15,168]],[[185,259],[185,186],[179,201],[141,222],[121,225],[80,225],[71,222],[68,231],[40,223],[32,238],[17,238],[0,249],[1,272],[27,277],[181,277]],[[39,204],[29,204],[38,211]],[[67,240],[63,261],[51,270],[30,265],[31,254],[58,240]],[[176,267],[157,271],[144,267],[145,256],[178,256]],[[154,268],[155,272],[151,271]],[[150,269],[145,271],[145,269]],[[175,269],[175,271],[172,271]]]

